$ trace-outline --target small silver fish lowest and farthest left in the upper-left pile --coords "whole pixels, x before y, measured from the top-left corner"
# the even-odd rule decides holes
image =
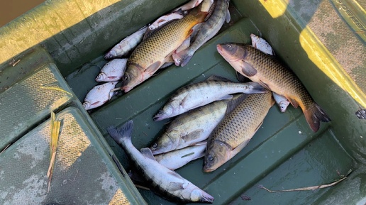
[[[111,97],[114,95],[112,90],[116,87],[117,81],[115,82],[106,82],[104,84],[99,84],[91,89],[87,96],[85,96],[84,102],[82,106],[84,109],[94,109],[109,101]]]

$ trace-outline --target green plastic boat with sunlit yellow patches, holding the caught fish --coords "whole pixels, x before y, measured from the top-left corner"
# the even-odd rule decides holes
[[[250,33],[272,45],[332,121],[314,133],[301,109],[272,106],[218,170],[203,172],[201,159],[177,172],[214,204],[366,204],[365,1],[232,0],[231,22],[185,67],[83,109],[105,53],[184,3],[45,1],[0,28],[0,204],[174,204],[135,187],[106,128],[132,119],[133,144],[149,146],[169,121],[153,116],[179,87],[212,74],[236,80],[216,45],[250,44]],[[51,111],[61,126],[49,182]]]

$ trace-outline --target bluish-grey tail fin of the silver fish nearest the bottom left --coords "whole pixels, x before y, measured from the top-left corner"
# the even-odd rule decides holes
[[[115,128],[109,127],[107,128],[109,135],[116,141],[119,145],[124,145],[126,141],[131,141],[131,135],[133,131],[133,121],[128,121],[124,123],[122,126]]]

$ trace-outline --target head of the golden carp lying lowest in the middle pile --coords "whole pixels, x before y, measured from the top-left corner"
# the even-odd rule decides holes
[[[230,159],[231,148],[226,143],[214,141],[204,156],[204,172],[212,172]]]

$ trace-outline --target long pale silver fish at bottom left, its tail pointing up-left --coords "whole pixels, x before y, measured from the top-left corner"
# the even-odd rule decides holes
[[[213,196],[199,189],[177,172],[160,165],[149,148],[142,148],[138,151],[131,141],[133,121],[128,121],[118,128],[109,127],[107,131],[126,151],[140,171],[140,176],[148,182],[149,188],[153,192],[180,202],[212,203],[214,201]]]

